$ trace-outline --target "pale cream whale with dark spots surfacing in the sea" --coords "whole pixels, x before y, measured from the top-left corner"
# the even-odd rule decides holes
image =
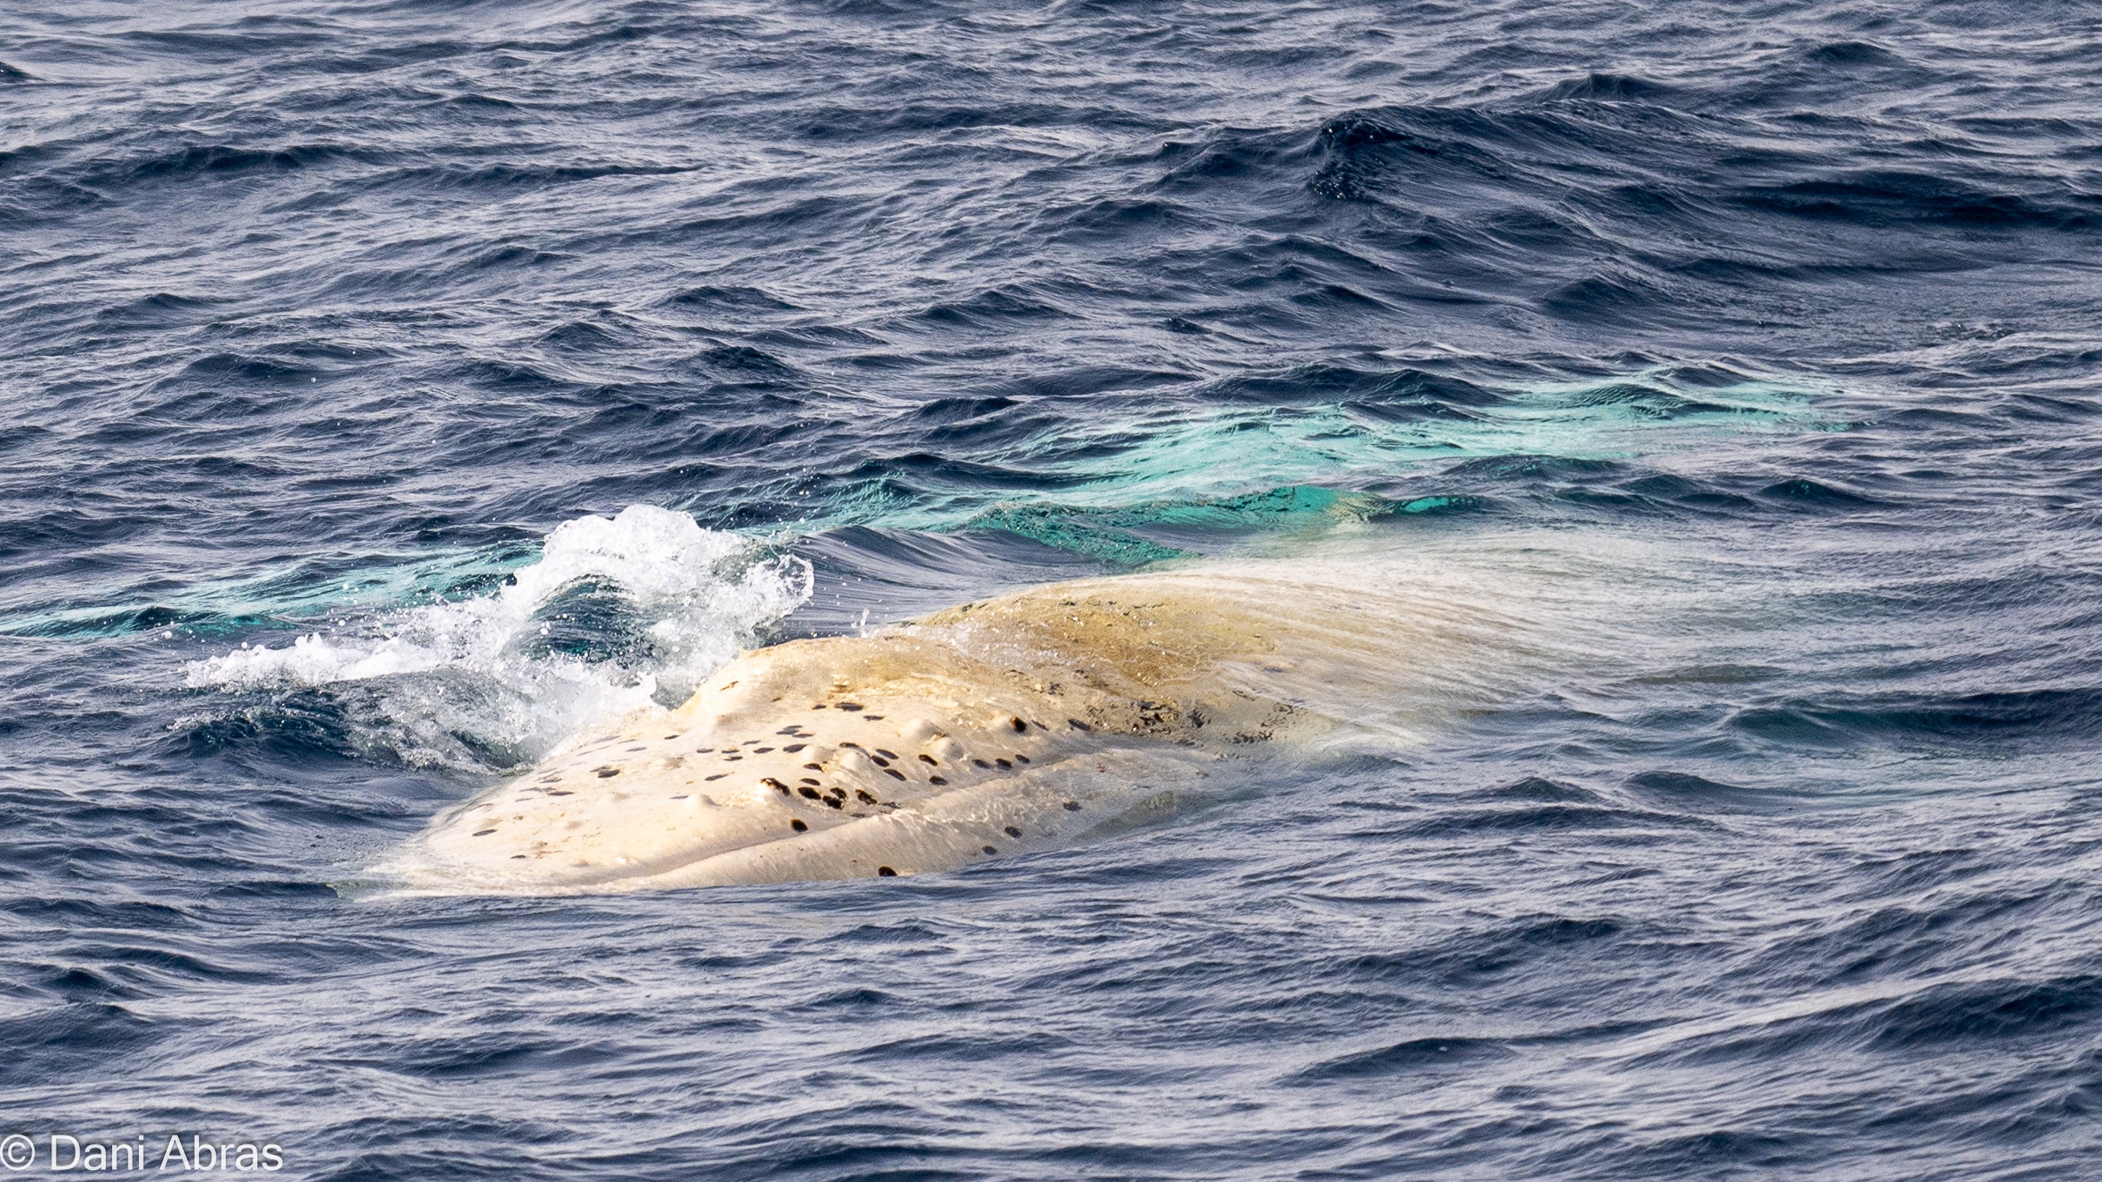
[[[1368,573],[1371,571],[1371,573]],[[362,882],[578,894],[891,878],[1085,842],[1539,666],[1480,573],[1246,561],[1051,584],[738,655],[454,808]]]

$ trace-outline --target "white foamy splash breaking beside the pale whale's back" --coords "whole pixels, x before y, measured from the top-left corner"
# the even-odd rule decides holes
[[[536,615],[580,579],[612,590],[643,621],[647,659],[584,661],[532,647],[544,628]],[[637,504],[555,527],[540,561],[494,594],[387,611],[275,649],[233,649],[189,663],[187,684],[355,684],[378,697],[378,710],[353,724],[393,729],[380,743],[412,762],[481,762],[488,752],[532,760],[597,718],[660,695],[683,699],[809,592],[809,563]]]

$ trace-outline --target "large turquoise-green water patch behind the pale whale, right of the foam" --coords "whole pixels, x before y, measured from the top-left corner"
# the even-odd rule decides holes
[[[1417,399],[1167,409],[1062,435],[1055,449],[1087,453],[1095,472],[1080,462],[1053,464],[1062,485],[1055,493],[1009,498],[961,523],[906,512],[879,525],[1007,529],[1110,563],[1143,565],[1190,554],[1175,533],[1198,542],[1251,529],[1480,508],[1482,500],[1467,495],[1394,502],[1354,489],[1440,462],[1633,460],[1711,443],[1719,432],[1835,426],[1816,414],[1810,391],[1766,380],[1688,388],[1658,372],[1482,395],[1465,405]],[[1104,453],[1114,456],[1112,464],[1104,464]],[[1104,466],[1116,470],[1099,472]],[[1251,485],[1268,487],[1246,491]]]

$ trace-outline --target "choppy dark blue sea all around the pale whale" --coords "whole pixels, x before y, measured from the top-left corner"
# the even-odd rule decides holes
[[[2098,61],[2047,2],[11,4],[0,1136],[2102,1176]],[[1337,552],[1583,573],[1566,659],[954,873],[347,886],[740,647]]]

